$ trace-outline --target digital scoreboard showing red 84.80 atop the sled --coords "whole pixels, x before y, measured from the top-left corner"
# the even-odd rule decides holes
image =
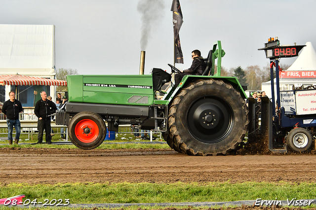
[[[290,58],[298,56],[300,50],[305,46],[306,45],[280,46],[279,40],[276,37],[276,40],[269,38],[269,41],[265,43],[265,47],[258,50],[264,50],[267,58]]]

